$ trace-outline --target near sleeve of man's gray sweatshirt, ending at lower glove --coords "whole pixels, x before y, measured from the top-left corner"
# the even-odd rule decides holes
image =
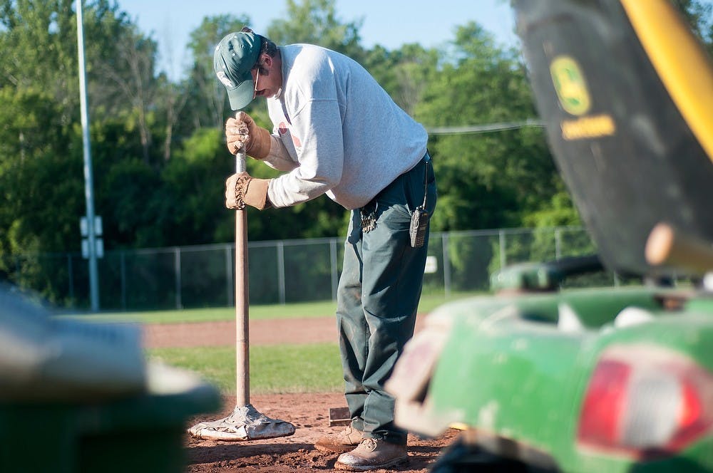
[[[344,138],[337,100],[309,100],[292,117],[289,133],[299,166],[272,182],[275,207],[290,207],[319,197],[342,180]]]

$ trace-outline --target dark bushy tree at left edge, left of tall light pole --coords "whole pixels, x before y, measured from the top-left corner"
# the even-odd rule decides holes
[[[62,281],[37,253],[79,244],[81,162],[67,152],[76,130],[46,91],[29,88],[0,88],[0,120],[0,275],[56,300]]]

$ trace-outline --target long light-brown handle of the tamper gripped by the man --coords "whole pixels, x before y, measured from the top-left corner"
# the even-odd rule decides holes
[[[235,172],[245,172],[245,152],[235,155]],[[235,214],[235,362],[236,405],[250,404],[250,332],[247,286],[247,209]]]

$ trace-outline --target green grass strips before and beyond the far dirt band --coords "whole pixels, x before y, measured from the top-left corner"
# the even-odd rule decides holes
[[[473,294],[458,294],[453,301]],[[444,296],[421,298],[419,313],[427,313],[446,302]],[[251,319],[329,317],[334,314],[334,302],[292,303],[286,305],[251,306]],[[234,308],[202,308],[182,311],[149,311],[135,313],[101,313],[73,316],[82,320],[133,323],[183,323],[225,321],[235,318]],[[235,394],[235,346],[198,348],[151,348],[149,359],[187,368],[215,384],[222,393]],[[327,393],[343,389],[339,347],[334,343],[306,345],[255,345],[250,347],[250,392]]]

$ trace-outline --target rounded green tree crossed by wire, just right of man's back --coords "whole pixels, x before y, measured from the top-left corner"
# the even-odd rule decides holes
[[[416,107],[416,118],[427,128],[520,123],[537,116],[516,51],[499,48],[474,23],[458,28],[452,46]],[[558,188],[540,128],[436,135],[430,147],[444,190],[436,229],[518,227]]]

